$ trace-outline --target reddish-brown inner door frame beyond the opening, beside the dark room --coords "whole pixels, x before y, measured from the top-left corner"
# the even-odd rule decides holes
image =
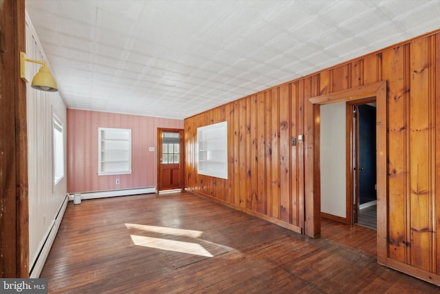
[[[368,98],[359,98],[356,100],[350,100],[346,103],[346,162],[347,162],[347,182],[350,185],[347,185],[347,220],[349,224],[354,224],[358,222],[359,218],[359,182],[360,182],[360,174],[359,170],[356,170],[353,173],[353,170],[360,166],[359,164],[359,120],[356,119],[356,125],[353,123],[353,107],[364,105],[367,103],[376,102],[376,97],[368,97]],[[359,116],[359,113],[357,114]],[[377,118],[376,118],[377,122]],[[356,130],[356,134],[355,134]],[[377,142],[377,134],[376,134],[376,142]],[[377,145],[377,143],[376,143]],[[355,148],[353,148],[355,146]],[[355,154],[356,152],[356,154]],[[377,173],[377,167],[376,167]],[[355,176],[353,176],[355,174]],[[354,183],[356,183],[356,187],[354,187]],[[353,199],[353,195],[357,198],[356,201]],[[355,213],[354,213],[354,205],[356,204],[356,221],[355,221]]]

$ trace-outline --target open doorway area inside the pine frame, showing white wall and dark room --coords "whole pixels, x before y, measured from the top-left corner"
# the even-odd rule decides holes
[[[320,107],[321,216],[377,229],[375,96]]]

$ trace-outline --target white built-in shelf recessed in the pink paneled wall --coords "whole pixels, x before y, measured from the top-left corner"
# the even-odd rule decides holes
[[[131,129],[98,128],[98,175],[131,174]]]

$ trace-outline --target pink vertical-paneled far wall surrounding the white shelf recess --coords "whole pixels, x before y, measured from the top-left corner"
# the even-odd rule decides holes
[[[98,176],[98,127],[131,129],[131,174]],[[67,109],[67,192],[156,186],[157,153],[148,147],[157,150],[157,127],[183,129],[184,121]]]

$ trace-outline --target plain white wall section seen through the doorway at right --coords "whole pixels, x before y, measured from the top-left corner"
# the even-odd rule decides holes
[[[321,211],[346,218],[345,102],[320,107]]]

